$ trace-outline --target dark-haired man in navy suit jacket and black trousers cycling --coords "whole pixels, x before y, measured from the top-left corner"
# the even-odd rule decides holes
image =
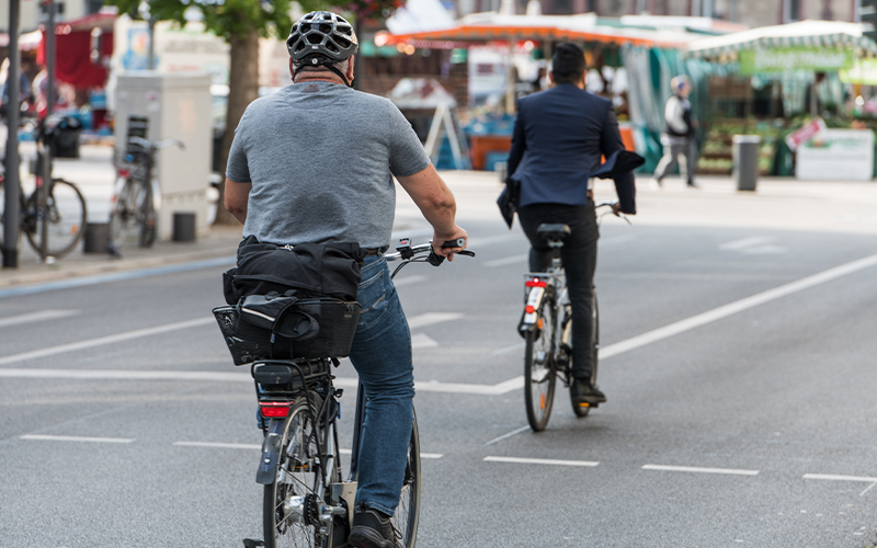
[[[624,150],[618,122],[607,99],[584,91],[584,52],[561,44],[551,59],[555,87],[517,103],[508,169],[520,182],[517,214],[531,244],[529,269],[550,264],[548,243],[536,229],[543,222],[569,225],[561,250],[572,302],[572,401],[597,404],[605,395],[592,383],[592,300],[599,237],[589,174]],[[614,213],[636,214],[634,175],[615,179],[618,202]]]

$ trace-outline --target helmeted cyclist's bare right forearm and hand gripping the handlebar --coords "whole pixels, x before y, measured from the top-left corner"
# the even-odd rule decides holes
[[[457,202],[454,199],[451,189],[442,181],[432,164],[413,175],[396,179],[402,185],[405,192],[414,201],[414,204],[420,208],[430,225],[432,225],[434,231],[432,242],[435,253],[447,256],[448,260],[453,259],[452,253],[462,250],[466,246],[445,250],[442,249],[442,243],[457,238],[468,240],[468,235],[466,230],[459,228],[454,221],[457,213]]]

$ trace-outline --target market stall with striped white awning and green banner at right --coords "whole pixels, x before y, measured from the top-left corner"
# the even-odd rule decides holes
[[[863,25],[801,21],[765,26],[693,42],[686,56],[724,71],[710,82],[709,132],[703,139],[701,172],[729,173],[731,137],[743,133],[761,136],[763,174],[797,171],[805,179],[862,179],[868,171],[829,167],[832,158],[858,155],[862,160],[858,152],[874,148],[873,135],[838,133],[856,132],[850,129],[848,89],[840,75],[877,56],[877,44],[863,34]],[[824,117],[834,133],[789,147],[785,137],[815,117]],[[847,150],[858,152],[847,155]],[[866,161],[873,162],[872,157]]]

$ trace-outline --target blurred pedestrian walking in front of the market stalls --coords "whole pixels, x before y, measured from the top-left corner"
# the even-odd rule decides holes
[[[692,117],[692,104],[688,94],[692,92],[692,84],[686,76],[677,76],[670,80],[673,94],[667,100],[664,106],[664,133],[661,135],[661,145],[664,147],[664,156],[658,162],[652,178],[652,186],[661,187],[667,172],[680,163],[680,172],[685,172],[685,182],[688,187],[695,189],[694,172],[697,169],[695,159],[694,132],[697,128],[697,121]]]

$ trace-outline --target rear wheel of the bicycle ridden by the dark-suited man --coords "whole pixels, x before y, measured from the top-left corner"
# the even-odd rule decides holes
[[[538,310],[536,329],[527,331],[524,350],[524,400],[527,422],[534,432],[542,432],[551,415],[555,399],[555,296],[546,293]]]

